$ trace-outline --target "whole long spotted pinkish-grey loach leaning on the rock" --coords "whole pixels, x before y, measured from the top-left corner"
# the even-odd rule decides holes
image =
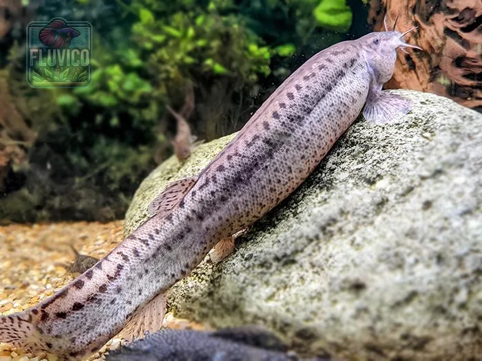
[[[104,259],[39,305],[1,317],[0,341],[78,359],[149,304],[160,305],[163,292],[218,241],[300,186],[363,108],[365,118],[379,123],[410,110],[407,100],[381,91],[397,47],[415,47],[404,34],[371,33],[306,61],[198,177],[168,186],[158,213]]]

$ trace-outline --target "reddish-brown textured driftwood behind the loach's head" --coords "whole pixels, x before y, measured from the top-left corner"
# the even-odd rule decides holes
[[[399,52],[386,88],[415,89],[452,98],[465,107],[482,107],[481,0],[372,0],[368,21],[375,31],[383,20],[397,30],[418,26],[409,42],[425,52]]]

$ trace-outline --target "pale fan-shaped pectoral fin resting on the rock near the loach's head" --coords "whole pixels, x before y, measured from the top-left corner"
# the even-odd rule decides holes
[[[368,96],[363,116],[368,122],[385,124],[401,118],[412,109],[412,103],[397,94],[379,91],[375,96]]]

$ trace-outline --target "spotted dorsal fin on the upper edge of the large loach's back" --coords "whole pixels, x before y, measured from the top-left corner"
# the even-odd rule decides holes
[[[197,180],[198,177],[188,177],[169,184],[147,206],[149,218],[158,213],[167,215],[184,198]]]

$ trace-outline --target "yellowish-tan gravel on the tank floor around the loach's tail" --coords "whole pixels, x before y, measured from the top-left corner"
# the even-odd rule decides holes
[[[112,223],[63,222],[0,227],[0,314],[23,311],[51,296],[78,274],[66,268],[81,254],[101,258],[123,239],[123,221]],[[165,325],[202,329],[201,325],[167,314]],[[103,353],[124,342],[113,338],[87,360],[103,360]],[[0,342],[0,361],[54,361],[54,355],[23,353]]]

